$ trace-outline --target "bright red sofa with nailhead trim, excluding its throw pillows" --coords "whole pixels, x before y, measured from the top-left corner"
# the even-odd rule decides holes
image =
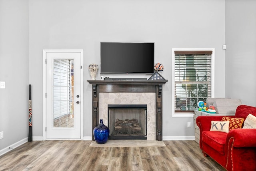
[[[233,118],[244,118],[256,107],[239,105]],[[198,116],[200,149],[228,171],[256,171],[256,129],[231,129],[228,133],[210,131],[211,121],[221,121],[224,116]]]

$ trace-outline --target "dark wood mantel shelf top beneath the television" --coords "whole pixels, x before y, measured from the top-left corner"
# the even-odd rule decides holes
[[[116,84],[116,85],[163,85],[168,82],[168,80],[87,80],[88,83],[92,85],[103,85],[103,84]]]

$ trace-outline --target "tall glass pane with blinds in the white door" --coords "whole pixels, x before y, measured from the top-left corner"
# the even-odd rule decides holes
[[[73,60],[54,60],[53,127],[74,127]]]

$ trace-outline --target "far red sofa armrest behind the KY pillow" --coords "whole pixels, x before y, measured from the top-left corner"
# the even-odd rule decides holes
[[[202,131],[210,131],[211,121],[221,121],[224,116],[198,116],[196,118],[196,124],[200,128],[200,137]]]

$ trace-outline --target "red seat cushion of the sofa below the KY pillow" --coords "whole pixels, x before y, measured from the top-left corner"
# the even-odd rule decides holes
[[[224,147],[228,133],[220,131],[203,131],[202,141],[224,155]]]

